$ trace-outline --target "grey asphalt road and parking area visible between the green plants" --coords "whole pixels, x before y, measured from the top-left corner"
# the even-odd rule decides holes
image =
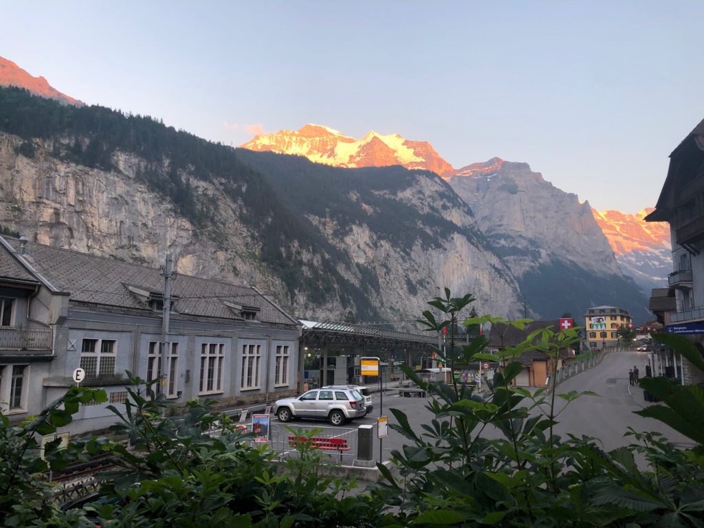
[[[691,441],[675,432],[670,427],[633,413],[645,406],[652,405],[643,398],[643,390],[638,386],[629,386],[628,371],[634,365],[640,370],[641,377],[645,374],[646,355],[636,351],[612,352],[604,357],[600,365],[586,370],[558,385],[557,393],[570,391],[593,391],[599,396],[582,396],[571,403],[565,403],[562,398],[555,398],[555,409],[560,412],[555,427],[558,434],[570,432],[578,436],[584,434],[593,436],[601,441],[606,451],[626,446],[634,442],[632,437],[624,436],[628,427],[633,427],[638,432],[657,431],[665,434],[667,439],[675,444],[691,445]],[[374,410],[363,418],[342,426],[345,428],[358,427],[359,425],[375,425],[379,417],[379,394],[373,394]],[[389,417],[389,423],[395,423],[394,415],[389,408],[396,408],[406,413],[410,425],[417,434],[422,434],[421,427],[432,420],[432,413],[425,408],[428,398],[401,398],[397,391],[384,394],[383,415]],[[273,422],[278,420],[274,419]],[[298,420],[292,424],[294,427],[332,427],[327,422]],[[487,428],[484,435],[498,437],[496,429]],[[381,458],[389,460],[391,451],[401,450],[403,444],[409,441],[401,434],[389,429],[389,436],[382,441]],[[379,440],[375,439],[375,456],[379,458]],[[352,453],[350,453],[351,455]]]

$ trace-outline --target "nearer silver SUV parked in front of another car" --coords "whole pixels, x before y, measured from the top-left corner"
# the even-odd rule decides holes
[[[279,421],[292,418],[323,418],[332,425],[343,425],[346,420],[363,417],[364,396],[355,389],[313,389],[296,398],[282,398],[274,404],[274,414]]]

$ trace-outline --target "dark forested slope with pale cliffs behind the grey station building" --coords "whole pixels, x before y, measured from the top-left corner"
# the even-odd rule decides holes
[[[436,287],[512,315],[517,284],[430,172],[241,154],[149,117],[0,89],[0,224],[253,284],[294,313],[408,318]]]

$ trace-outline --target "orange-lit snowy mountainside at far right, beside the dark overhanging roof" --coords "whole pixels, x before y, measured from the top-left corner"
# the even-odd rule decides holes
[[[672,242],[667,222],[646,222],[654,208],[627,215],[617,210],[592,209],[625,275],[634,278],[649,294],[650,289],[667,287],[672,271]]]

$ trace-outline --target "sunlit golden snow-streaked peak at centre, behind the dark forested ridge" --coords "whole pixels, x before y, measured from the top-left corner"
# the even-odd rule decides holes
[[[453,172],[428,142],[414,142],[398,134],[382,136],[369,132],[362,139],[345,136],[321,125],[304,125],[299,130],[279,130],[257,136],[243,149],[305,156],[315,163],[334,167],[388,167],[427,169],[448,177]]]

